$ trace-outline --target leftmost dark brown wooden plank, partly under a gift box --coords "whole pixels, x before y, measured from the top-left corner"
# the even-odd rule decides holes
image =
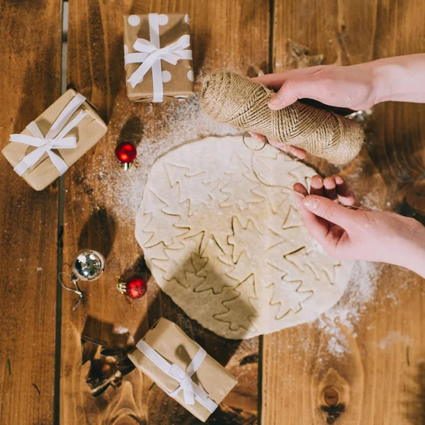
[[[0,150],[60,96],[61,31],[59,0],[0,1]],[[57,187],[34,191],[0,156],[4,425],[53,423]]]

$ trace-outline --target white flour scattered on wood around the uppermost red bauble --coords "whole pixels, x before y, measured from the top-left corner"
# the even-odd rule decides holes
[[[145,121],[140,119],[142,116]],[[123,225],[133,225],[147,174],[158,157],[203,137],[237,134],[241,134],[240,130],[215,123],[201,111],[198,94],[188,101],[143,105],[118,98],[102,142],[106,147],[87,169],[86,183],[93,189],[96,205],[106,208]],[[115,146],[124,141],[137,145],[138,166],[128,171],[120,167],[114,156]]]

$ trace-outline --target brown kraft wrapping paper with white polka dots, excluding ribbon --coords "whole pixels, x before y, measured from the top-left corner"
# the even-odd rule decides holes
[[[184,13],[167,13],[159,15],[159,21],[162,18],[168,18],[165,25],[159,25],[160,47],[171,45],[179,40],[181,35],[190,35],[188,15]],[[144,38],[150,41],[149,17],[148,15],[125,15],[124,18],[124,52],[136,53],[133,45],[137,38]],[[166,19],[164,18],[164,19]],[[189,50],[192,46],[188,47]],[[164,81],[163,90],[164,101],[174,100],[176,98],[188,98],[193,95],[193,61],[181,59],[173,65],[165,60],[161,60],[162,72],[171,75],[169,81]],[[128,64],[125,67],[125,78],[128,80],[133,72],[140,67],[140,63]],[[169,74],[167,74],[169,73]],[[166,79],[165,79],[166,80]],[[127,95],[130,101],[152,101],[153,100],[153,81],[152,69],[149,69],[143,80],[133,89],[126,81]]]

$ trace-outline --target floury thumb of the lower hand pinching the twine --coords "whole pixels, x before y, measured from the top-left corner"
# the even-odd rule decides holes
[[[314,215],[324,218],[329,222],[346,229],[358,220],[358,212],[334,203],[333,200],[323,196],[309,195],[303,200],[304,206]]]

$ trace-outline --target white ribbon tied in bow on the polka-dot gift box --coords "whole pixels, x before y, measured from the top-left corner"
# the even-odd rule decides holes
[[[141,63],[140,67],[132,73],[128,82],[134,89],[142,81],[149,69],[152,68],[153,100],[154,102],[162,102],[164,88],[161,60],[173,65],[177,64],[181,59],[192,60],[192,50],[187,49],[191,45],[191,38],[188,34],[185,34],[176,42],[171,43],[171,45],[161,47],[159,44],[158,13],[149,13],[149,35],[150,41],[145,40],[145,38],[137,38],[133,48],[138,53],[127,53],[124,57],[125,66]]]

